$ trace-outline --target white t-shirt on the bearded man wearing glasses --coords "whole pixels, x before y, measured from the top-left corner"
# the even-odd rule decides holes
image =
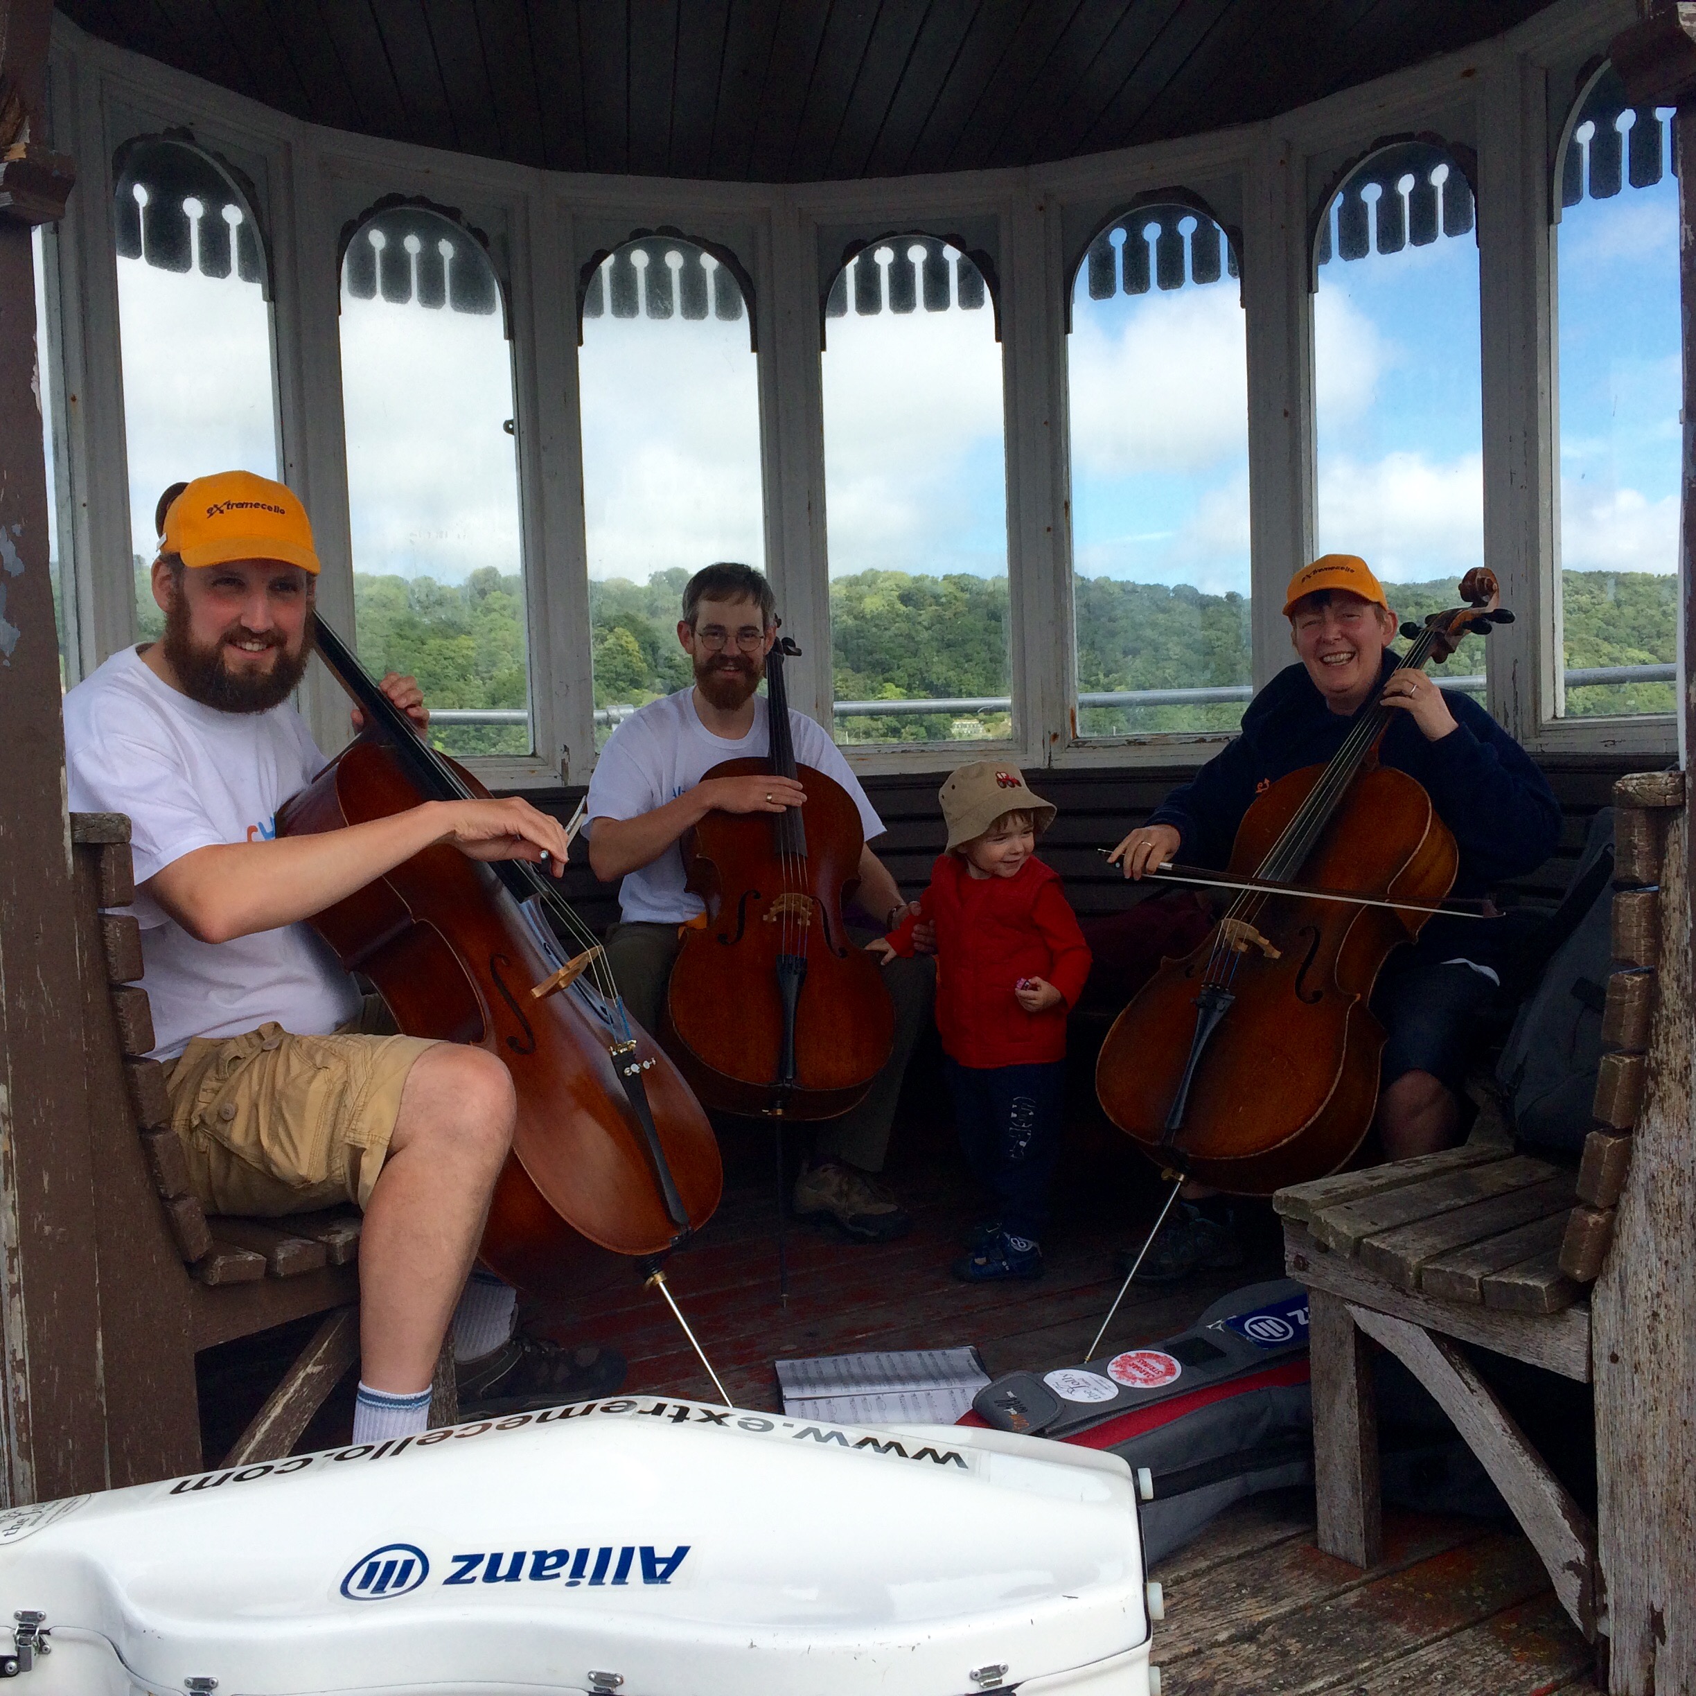
[[[765,695],[755,695],[753,729],[729,741],[714,736],[695,712],[694,687],[650,700],[611,736],[589,780],[589,829],[595,819],[639,819],[694,789],[724,760],[762,760],[770,753]],[[789,709],[795,763],[836,778],[860,809],[865,838],[884,834],[884,821],[865,799],[841,750],[804,712]],[[626,872],[619,911],[629,923],[682,924],[702,911],[699,895],[683,887],[683,851],[673,843],[658,860]]]

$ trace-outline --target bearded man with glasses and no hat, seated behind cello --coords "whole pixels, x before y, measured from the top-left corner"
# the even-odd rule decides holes
[[[807,795],[782,777],[714,777],[724,760],[763,758],[770,751],[767,702],[758,695],[765,656],[777,639],[772,585],[748,565],[709,565],[683,589],[677,639],[690,656],[695,682],[651,700],[609,738],[589,782],[589,863],[604,882],[622,879],[621,923],[607,933],[607,958],[626,1006],[650,1031],[660,1028],[682,926],[704,904],[685,889],[680,841],[709,812],[784,812]],[[795,760],[833,777],[853,797],[867,843],[884,821],[834,741],[806,714],[790,709]],[[899,924],[907,904],[889,868],[860,853],[856,906],[875,934]],[[912,1045],[929,1021],[934,963],[894,960],[884,984],[895,1002],[895,1046],[865,1099],[814,1133],[812,1155],[795,1180],[801,1218],[831,1218],[862,1241],[889,1241],[911,1219],[875,1182],[889,1150],[889,1131]]]

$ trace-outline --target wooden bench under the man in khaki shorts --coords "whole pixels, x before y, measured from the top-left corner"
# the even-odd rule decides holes
[[[129,819],[71,814],[86,1065],[97,1104],[97,1258],[112,1482],[197,1472],[195,1355],[322,1314],[315,1335],[224,1465],[275,1460],[360,1358],[360,1213],[207,1218],[171,1130],[165,1067],[149,1060],[153,1013],[134,901]],[[453,1357],[436,1374],[431,1420],[455,1418]]]

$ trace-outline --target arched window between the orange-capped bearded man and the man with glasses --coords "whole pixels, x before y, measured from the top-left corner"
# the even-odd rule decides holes
[[[529,753],[512,356],[456,215],[380,204],[353,229],[341,392],[360,658],[417,677],[449,753]]]

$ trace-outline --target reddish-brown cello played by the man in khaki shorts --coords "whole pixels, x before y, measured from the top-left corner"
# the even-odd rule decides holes
[[[280,834],[488,795],[417,734],[322,619],[317,653],[365,726],[278,811]],[[563,1294],[589,1243],[661,1255],[711,1218],[722,1187],[712,1128],[624,1013],[605,957],[550,875],[436,843],[312,926],[349,972],[377,984],[402,1033],[473,1043],[512,1075],[512,1152],[478,1250],[509,1284]]]

